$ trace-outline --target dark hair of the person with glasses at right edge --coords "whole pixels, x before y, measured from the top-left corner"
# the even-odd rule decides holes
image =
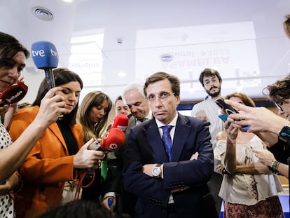
[[[264,88],[263,92],[265,90],[268,90],[271,100],[282,103],[286,98],[290,98],[290,76],[286,76],[284,79],[268,85]]]

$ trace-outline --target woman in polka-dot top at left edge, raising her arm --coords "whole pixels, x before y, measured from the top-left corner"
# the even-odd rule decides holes
[[[0,92],[16,83],[25,68],[25,60],[29,57],[29,51],[15,39],[15,37],[0,32]],[[27,128],[12,143],[11,137],[0,123],[1,151],[0,151],[0,200],[1,211],[5,217],[14,217],[14,206],[11,191],[18,191],[21,188],[22,179],[16,170],[25,161],[29,151],[40,139],[46,128],[55,122],[64,113],[65,102],[62,95],[55,95],[62,90],[61,87],[53,88],[43,96],[39,112]],[[0,100],[0,104],[4,101]],[[0,107],[0,114],[4,116],[10,105]]]

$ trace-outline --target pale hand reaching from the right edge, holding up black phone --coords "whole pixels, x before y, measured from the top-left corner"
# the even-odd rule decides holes
[[[265,107],[248,107],[238,102],[225,100],[226,104],[235,107],[239,114],[230,114],[228,121],[236,125],[249,125],[247,132],[273,132],[278,133],[284,125],[289,123],[285,118],[277,116]]]

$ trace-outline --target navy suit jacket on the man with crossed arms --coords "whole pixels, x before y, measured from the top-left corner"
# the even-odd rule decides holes
[[[138,196],[136,217],[166,217],[171,189],[175,217],[216,217],[207,182],[214,170],[213,151],[207,122],[179,114],[174,132],[172,162],[169,162],[155,118],[130,131],[125,151],[125,189]],[[189,161],[198,151],[198,160]],[[164,163],[164,178],[142,172],[142,165]],[[209,214],[213,211],[214,214]]]

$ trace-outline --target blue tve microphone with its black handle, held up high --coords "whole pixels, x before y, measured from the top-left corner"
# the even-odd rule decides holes
[[[53,68],[58,64],[55,45],[49,41],[36,41],[32,44],[32,60],[38,69],[44,69],[48,89],[55,87]]]

